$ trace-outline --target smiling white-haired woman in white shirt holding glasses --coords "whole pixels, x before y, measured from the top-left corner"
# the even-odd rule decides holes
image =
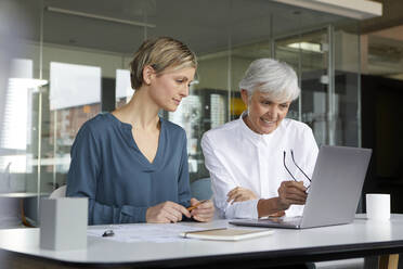
[[[300,94],[297,75],[260,59],[239,89],[247,111],[202,140],[216,207],[225,218],[301,215],[318,150],[310,127],[286,118]]]

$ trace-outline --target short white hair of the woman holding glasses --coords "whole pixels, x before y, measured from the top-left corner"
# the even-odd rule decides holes
[[[290,102],[299,97],[296,72],[288,64],[274,59],[253,61],[239,81],[239,89],[248,91],[250,100],[253,91],[268,93],[275,102]]]

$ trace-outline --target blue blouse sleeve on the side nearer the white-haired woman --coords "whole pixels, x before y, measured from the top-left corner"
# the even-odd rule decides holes
[[[178,179],[178,201],[179,204],[183,205],[184,207],[188,207],[191,205],[191,185],[188,178],[187,140],[186,133],[184,131],[183,133],[181,165]]]

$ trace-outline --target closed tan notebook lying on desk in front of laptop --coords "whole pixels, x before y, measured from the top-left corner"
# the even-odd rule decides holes
[[[187,239],[219,240],[219,241],[239,241],[270,235],[273,230],[268,229],[231,229],[220,228],[203,231],[182,232],[180,235]]]

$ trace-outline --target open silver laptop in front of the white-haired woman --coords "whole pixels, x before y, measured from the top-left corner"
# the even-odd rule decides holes
[[[236,226],[303,229],[352,222],[372,150],[322,145],[302,216],[238,219]]]

